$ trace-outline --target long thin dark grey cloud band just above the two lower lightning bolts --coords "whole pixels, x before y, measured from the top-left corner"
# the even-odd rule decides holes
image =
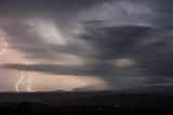
[[[102,65],[102,66],[98,66]],[[103,66],[104,65],[104,66]],[[34,64],[34,65],[24,65],[24,64],[5,64],[4,68],[12,69],[23,69],[23,71],[34,71],[34,72],[43,72],[57,75],[94,75],[94,76],[104,76],[109,75],[110,65],[107,64],[90,64],[90,65],[58,65],[58,64]]]

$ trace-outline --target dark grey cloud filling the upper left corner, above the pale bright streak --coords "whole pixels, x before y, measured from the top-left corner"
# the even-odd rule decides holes
[[[111,0],[70,0],[68,2],[64,0],[2,0],[0,1],[0,21],[11,23],[14,20],[23,21],[32,17],[51,18],[65,30],[80,12],[109,1]]]

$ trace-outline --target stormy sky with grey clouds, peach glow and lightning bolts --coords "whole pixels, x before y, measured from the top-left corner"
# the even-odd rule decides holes
[[[1,0],[0,91],[172,86],[172,0]]]

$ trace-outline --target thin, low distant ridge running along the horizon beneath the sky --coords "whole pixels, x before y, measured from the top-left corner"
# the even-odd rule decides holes
[[[121,89],[121,90],[83,90],[82,88],[76,88],[72,91],[66,91],[66,90],[53,90],[53,91],[37,91],[37,92],[27,92],[27,91],[5,91],[0,93],[18,93],[18,94],[25,94],[25,93],[69,93],[69,94],[80,94],[85,93],[89,94],[119,94],[119,93],[136,93],[136,94],[167,94],[167,95],[173,95],[173,86],[150,86],[150,87],[141,87],[141,88],[131,88],[131,89]]]

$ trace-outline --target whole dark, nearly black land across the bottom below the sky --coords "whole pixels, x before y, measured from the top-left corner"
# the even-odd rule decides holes
[[[172,94],[101,92],[0,93],[0,115],[173,115]]]

